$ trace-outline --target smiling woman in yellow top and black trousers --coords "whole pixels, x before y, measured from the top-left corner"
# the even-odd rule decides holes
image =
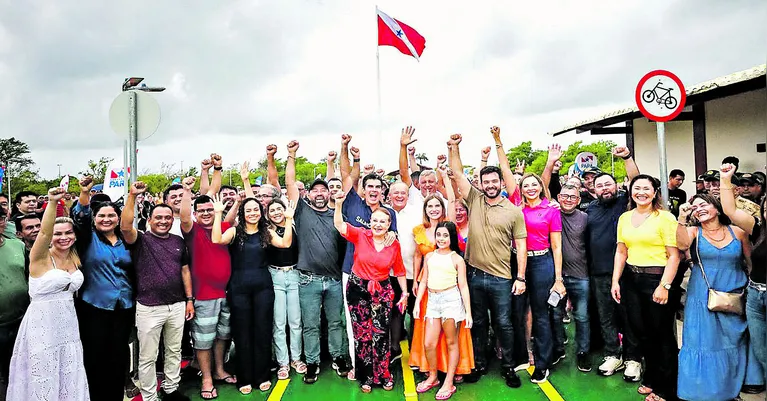
[[[629,211],[618,219],[612,296],[622,303],[645,358],[646,401],[676,400],[677,348],[668,292],[679,266],[676,219],[663,210],[660,182],[640,174],[629,185]]]

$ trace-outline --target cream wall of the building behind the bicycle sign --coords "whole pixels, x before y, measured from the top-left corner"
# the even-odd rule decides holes
[[[741,172],[764,171],[767,154],[756,144],[767,141],[767,89],[706,102],[707,169],[718,169],[726,156],[740,159]],[[658,177],[659,157],[655,123],[634,120],[635,160],[643,173]],[[682,189],[695,193],[695,156],[692,121],[666,123],[668,171],[685,172]]]

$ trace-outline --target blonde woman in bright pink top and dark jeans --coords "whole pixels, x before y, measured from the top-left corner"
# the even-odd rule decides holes
[[[562,215],[549,202],[548,190],[535,174],[525,174],[520,183],[527,227],[527,293],[533,314],[533,383],[546,381],[549,367],[564,358],[554,352],[553,307],[565,295],[562,279]],[[516,250],[515,250],[516,251]],[[554,293],[557,294],[554,294]],[[556,301],[555,305],[549,303]],[[560,319],[561,323],[561,319]]]

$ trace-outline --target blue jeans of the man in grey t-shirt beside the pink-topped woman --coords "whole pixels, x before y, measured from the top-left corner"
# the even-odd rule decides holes
[[[567,298],[573,305],[573,319],[575,319],[575,344],[576,352],[584,354],[589,352],[591,343],[591,323],[589,322],[589,279],[565,276],[565,288],[567,289]],[[557,334],[557,344],[564,344],[565,333],[562,326],[562,315],[565,309],[565,302],[561,302],[555,309],[554,328]],[[558,330],[557,322],[562,330]]]

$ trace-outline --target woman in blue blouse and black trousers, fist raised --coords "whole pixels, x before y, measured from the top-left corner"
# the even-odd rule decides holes
[[[72,210],[85,283],[77,300],[83,363],[92,400],[122,401],[135,319],[133,264],[120,234],[120,208],[90,205],[93,178],[80,181]]]

